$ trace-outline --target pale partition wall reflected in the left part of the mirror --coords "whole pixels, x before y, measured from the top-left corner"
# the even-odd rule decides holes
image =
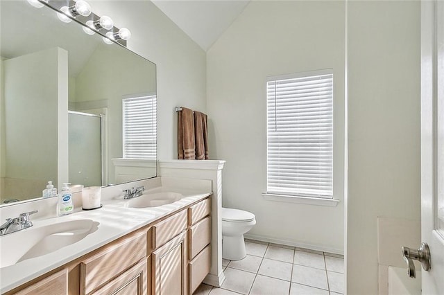
[[[67,111],[67,96],[60,94],[67,91],[67,51],[51,48],[5,60],[3,66],[7,127],[4,197],[39,197],[46,181],[57,184],[59,168],[67,167],[67,157],[58,161],[58,146],[67,150],[67,143],[60,142],[63,136],[67,139],[67,128],[62,132],[67,116],[54,116],[63,107],[60,101],[64,98],[63,114]]]

